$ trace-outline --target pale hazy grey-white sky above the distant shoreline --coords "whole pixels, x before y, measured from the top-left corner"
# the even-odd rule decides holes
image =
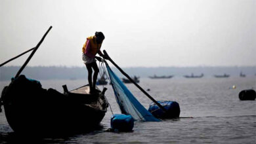
[[[0,63],[37,45],[30,66],[84,66],[102,31],[120,67],[256,65],[255,0],[0,0]],[[28,54],[8,65],[22,65]]]

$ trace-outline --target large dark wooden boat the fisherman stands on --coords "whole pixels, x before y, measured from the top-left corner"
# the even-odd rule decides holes
[[[1,103],[14,132],[36,135],[87,132],[104,118],[108,107],[105,91],[91,95],[89,86],[70,92],[64,86],[62,94],[20,75],[5,86]]]

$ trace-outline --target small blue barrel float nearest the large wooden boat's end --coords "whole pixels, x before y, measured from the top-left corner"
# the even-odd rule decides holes
[[[114,132],[131,132],[134,119],[131,115],[115,114],[111,116],[111,129]]]

